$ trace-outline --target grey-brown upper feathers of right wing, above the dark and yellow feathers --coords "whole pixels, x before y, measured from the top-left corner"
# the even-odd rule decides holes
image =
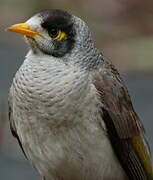
[[[128,90],[115,66],[104,60],[91,74],[103,104],[103,115],[105,112],[109,114],[117,135],[120,138],[129,138],[144,132]]]

